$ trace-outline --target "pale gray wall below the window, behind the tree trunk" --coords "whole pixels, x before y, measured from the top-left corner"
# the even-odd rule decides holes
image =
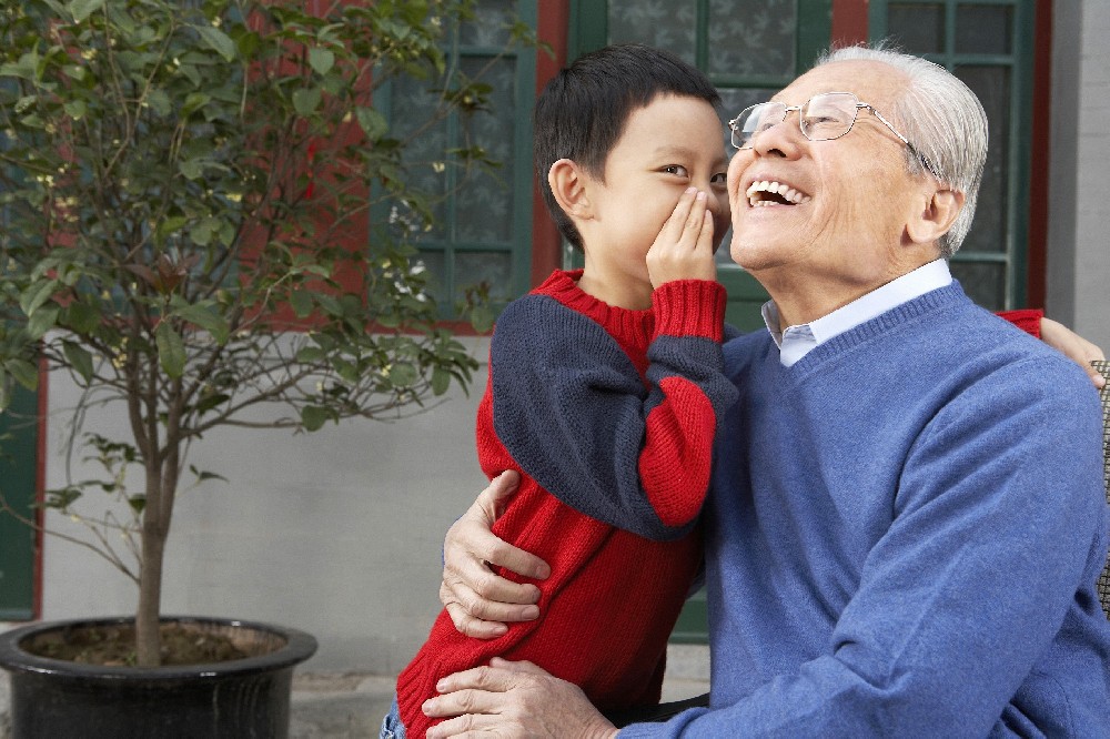
[[[488,342],[470,344],[483,362],[470,397],[453,391],[416,417],[299,436],[225,429],[205,437],[191,463],[230,482],[181,497],[163,613],[304,629],[320,641],[311,669],[400,670],[438,613],[443,533],[485,485],[474,414]],[[72,404],[74,389],[62,379],[51,377],[52,409]],[[101,416],[90,431],[119,423]],[[61,422],[52,423],[48,486],[64,479],[63,436]],[[43,590],[47,619],[134,609],[129,580],[56,538],[44,543]]]

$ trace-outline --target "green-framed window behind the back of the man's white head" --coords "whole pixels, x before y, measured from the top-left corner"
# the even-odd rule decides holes
[[[962,79],[990,119],[975,223],[951,260],[971,298],[990,310],[1028,300],[1035,0],[871,0],[868,36]]]

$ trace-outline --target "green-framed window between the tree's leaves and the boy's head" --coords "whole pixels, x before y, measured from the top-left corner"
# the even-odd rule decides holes
[[[420,133],[408,153],[443,159],[443,151],[481,145],[502,166],[494,173],[472,172],[462,179],[456,168],[427,161],[408,176],[436,193],[436,225],[416,237],[420,259],[431,276],[440,316],[460,317],[467,292],[478,287],[493,307],[527,292],[532,267],[532,107],[535,100],[536,50],[505,50],[504,22],[514,17],[535,30],[537,0],[480,0],[474,20],[447,32],[447,69],[472,77],[492,62],[483,81],[492,87],[491,105],[464,120],[452,112]],[[375,93],[395,134],[410,133],[414,107],[428,104],[417,88],[425,83],[391,82]],[[420,119],[421,117],[415,117]],[[411,160],[410,160],[411,161]],[[396,204],[374,210],[374,222],[386,223]],[[395,211],[393,211],[395,214]]]

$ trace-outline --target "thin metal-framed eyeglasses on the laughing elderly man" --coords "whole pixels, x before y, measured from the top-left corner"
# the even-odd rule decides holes
[[[856,115],[860,108],[871,111],[871,114],[890,129],[890,132],[898,136],[899,141],[906,144],[910,152],[920,160],[926,170],[937,179],[942,179],[937,174],[929,160],[909,142],[909,139],[899,133],[890,121],[882,118],[879,111],[867,103],[859,102],[859,98],[850,92],[825,92],[814,95],[804,105],[787,105],[777,102],[749,105],[728,122],[728,128],[733,132],[734,146],[751,149],[757,134],[778,125],[786,120],[788,114],[798,111],[798,125],[807,139],[810,141],[831,141],[851,131],[851,124],[856,122]]]

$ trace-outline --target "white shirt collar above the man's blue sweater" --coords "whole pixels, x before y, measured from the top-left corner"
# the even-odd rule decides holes
[[[928,292],[951,284],[952,273],[947,260],[935,260],[918,269],[872,290],[844,307],[826,316],[798,326],[779,331],[778,306],[774,301],[763,305],[764,323],[779,348],[779,358],[787,367],[794,366],[801,357],[828,340],[842,334],[859,324],[870,321],[902,303],[920,297]]]

